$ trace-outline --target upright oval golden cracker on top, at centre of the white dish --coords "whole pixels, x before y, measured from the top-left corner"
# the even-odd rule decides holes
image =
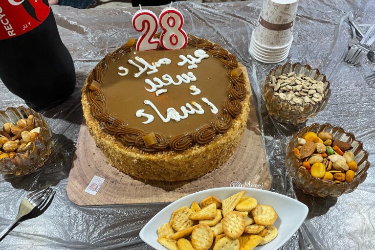
[[[230,239],[237,239],[245,229],[245,220],[237,211],[228,212],[222,219],[222,229]]]

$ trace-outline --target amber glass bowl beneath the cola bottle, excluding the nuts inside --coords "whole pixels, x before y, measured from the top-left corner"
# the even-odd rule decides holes
[[[19,119],[26,119],[34,115],[35,127],[41,127],[40,134],[33,144],[26,147],[23,153],[16,153],[12,158],[0,159],[0,173],[25,175],[43,166],[51,153],[52,131],[42,114],[24,107],[9,107],[0,111],[0,131],[6,122],[17,123]]]

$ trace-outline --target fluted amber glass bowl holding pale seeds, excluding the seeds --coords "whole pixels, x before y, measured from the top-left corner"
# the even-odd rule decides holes
[[[290,72],[295,72],[297,75],[305,74],[316,81],[322,81],[325,84],[324,98],[315,104],[302,105],[292,104],[290,101],[283,100],[278,95],[274,95],[273,87],[270,86],[272,76],[278,77],[283,73]],[[272,68],[265,78],[262,94],[268,114],[279,122],[293,125],[305,122],[323,110],[327,105],[330,95],[330,82],[326,81],[326,76],[320,74],[318,69],[312,69],[309,65],[302,66],[299,63],[286,63]]]

